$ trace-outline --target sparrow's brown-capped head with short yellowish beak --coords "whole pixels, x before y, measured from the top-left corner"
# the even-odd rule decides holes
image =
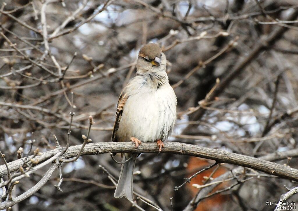
[[[166,71],[167,59],[157,44],[148,43],[139,51],[136,69],[139,73]]]

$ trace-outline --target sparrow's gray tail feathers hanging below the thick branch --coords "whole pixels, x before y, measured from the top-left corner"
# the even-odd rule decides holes
[[[126,153],[125,153],[126,154]],[[136,156],[131,155],[133,158],[121,166],[120,176],[118,184],[114,193],[115,198],[121,198],[125,196],[128,200],[134,199],[132,190],[132,178],[134,174],[134,165],[136,164]],[[122,162],[127,158],[125,155],[122,157]]]

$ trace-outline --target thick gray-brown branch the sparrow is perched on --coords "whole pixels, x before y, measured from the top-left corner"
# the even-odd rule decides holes
[[[249,157],[246,155],[236,154],[228,151],[211,149],[206,147],[200,147],[191,144],[185,143],[176,143],[176,142],[166,142],[165,149],[162,150],[162,153],[172,153],[172,154],[183,154],[190,155],[195,157],[202,157],[206,159],[216,160],[218,162],[225,162],[234,165],[239,165],[243,167],[252,168],[258,171],[265,172],[267,174],[279,176],[285,179],[290,179],[298,181],[298,170],[290,168],[284,165],[276,164],[266,160],[260,160],[258,158]],[[63,158],[71,158],[76,156],[80,151],[82,145],[69,147],[66,153],[63,155]],[[104,154],[111,152],[131,152],[131,153],[141,153],[141,152],[158,152],[158,147],[156,143],[142,143],[142,146],[139,146],[139,149],[135,148],[130,142],[109,142],[109,143],[89,143],[86,144],[82,155],[88,154]],[[47,151],[43,155],[37,156],[40,162],[47,160],[49,157],[52,157],[58,151],[57,149]],[[296,152],[296,151],[294,151]],[[276,155],[278,157],[278,154]],[[297,156],[296,154],[292,155],[293,157]],[[16,160],[8,163],[8,167],[11,171],[15,171],[21,167],[23,161]],[[0,176],[7,174],[6,166],[0,166]]]

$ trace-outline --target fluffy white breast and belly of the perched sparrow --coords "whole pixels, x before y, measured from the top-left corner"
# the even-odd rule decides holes
[[[128,97],[119,122],[119,141],[136,137],[142,142],[165,141],[176,122],[176,95],[166,83],[158,89],[138,87],[139,91]]]

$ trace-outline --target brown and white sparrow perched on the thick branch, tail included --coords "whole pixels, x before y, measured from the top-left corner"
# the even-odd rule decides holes
[[[159,152],[176,123],[177,98],[169,84],[167,59],[159,45],[148,43],[139,51],[136,74],[120,93],[113,142],[156,142]],[[122,166],[114,193],[133,200],[133,173],[139,154],[121,153]]]

